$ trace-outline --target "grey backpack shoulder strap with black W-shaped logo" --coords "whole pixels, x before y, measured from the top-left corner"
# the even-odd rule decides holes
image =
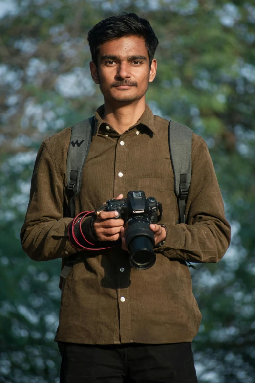
[[[94,132],[94,117],[72,127],[66,162],[67,191],[70,196],[71,217],[75,217],[75,197],[80,192],[84,164]]]

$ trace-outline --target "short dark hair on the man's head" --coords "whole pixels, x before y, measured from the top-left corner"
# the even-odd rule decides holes
[[[120,15],[110,16],[101,20],[90,29],[87,36],[93,62],[97,66],[99,46],[106,41],[119,39],[123,36],[138,36],[145,40],[145,47],[149,56],[149,65],[154,58],[158,46],[158,39],[150,23],[135,13],[122,12]]]

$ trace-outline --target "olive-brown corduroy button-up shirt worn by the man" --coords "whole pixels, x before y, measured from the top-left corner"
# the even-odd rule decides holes
[[[35,261],[79,252],[62,286],[55,341],[86,344],[176,343],[192,341],[201,313],[185,262],[218,262],[230,243],[230,225],[205,141],[192,135],[192,175],[186,222],[178,221],[168,124],[149,106],[123,134],[95,113],[97,133],[86,159],[76,214],[94,211],[104,201],[143,190],[162,203],[159,222],[167,238],[154,248],[156,263],[130,267],[121,246],[77,250],[68,237],[66,158],[71,128],[45,140],[35,162],[30,201],[21,229],[23,250]],[[114,244],[114,243],[113,243]],[[63,262],[62,262],[63,266]],[[199,272],[199,270],[197,270]]]

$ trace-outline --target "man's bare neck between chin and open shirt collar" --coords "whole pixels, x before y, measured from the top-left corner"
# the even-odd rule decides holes
[[[145,110],[145,97],[132,103],[112,105],[105,100],[103,120],[111,125],[119,134],[124,133],[134,125]]]

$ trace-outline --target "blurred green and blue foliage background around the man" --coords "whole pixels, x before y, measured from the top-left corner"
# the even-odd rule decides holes
[[[87,32],[121,11],[154,28],[147,102],[206,140],[232,225],[223,260],[191,270],[199,382],[254,383],[254,0],[0,0],[0,382],[59,381],[60,260],[30,260],[20,229],[40,143],[103,103]]]

